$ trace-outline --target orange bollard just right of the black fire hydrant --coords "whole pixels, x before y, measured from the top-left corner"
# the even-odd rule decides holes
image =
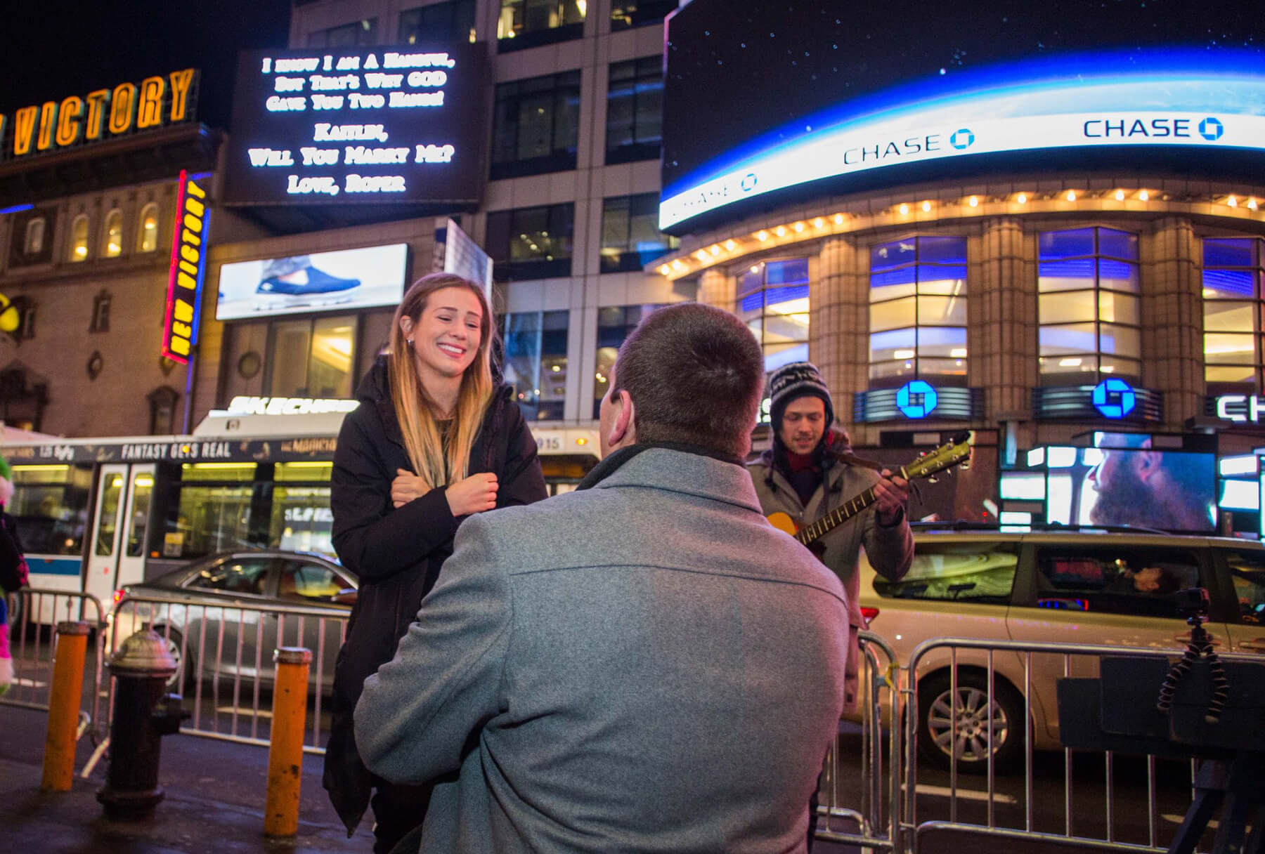
[[[277,682],[272,687],[272,738],[268,742],[268,797],[263,833],[299,833],[299,785],[304,777],[304,728],[307,721],[307,667],[312,653],[282,647],[273,653]]]

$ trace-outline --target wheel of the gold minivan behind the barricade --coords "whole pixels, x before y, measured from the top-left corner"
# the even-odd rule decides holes
[[[950,673],[941,672],[918,683],[918,753],[935,766],[950,767],[954,750],[958,769],[988,772],[988,730],[993,730],[993,771],[1013,771],[1023,752],[1023,700],[1009,682],[993,676],[993,701],[988,702],[988,675],[958,671],[958,701],[951,702]]]

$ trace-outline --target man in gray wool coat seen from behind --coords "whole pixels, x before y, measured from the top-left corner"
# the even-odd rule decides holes
[[[435,782],[401,845],[805,850],[848,604],[760,514],[763,378],[734,315],[662,308],[620,349],[579,488],[460,527],[355,707],[371,771]]]

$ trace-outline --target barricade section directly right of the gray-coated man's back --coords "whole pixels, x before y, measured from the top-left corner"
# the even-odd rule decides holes
[[[861,773],[841,739],[826,754],[817,806],[817,839],[861,845],[870,850],[902,851],[901,848],[901,670],[896,652],[873,632],[860,633],[859,673]],[[893,709],[896,715],[893,716]],[[887,725],[884,726],[884,721]],[[841,729],[850,729],[844,721]],[[888,754],[884,764],[883,745]],[[859,783],[854,791],[850,782]],[[859,809],[856,805],[859,803]]]

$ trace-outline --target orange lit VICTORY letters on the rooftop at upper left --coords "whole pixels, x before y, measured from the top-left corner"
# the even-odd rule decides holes
[[[96,143],[134,130],[149,130],[192,119],[191,93],[197,71],[185,68],[166,77],[99,88],[0,112],[0,158],[56,152],[78,143]],[[11,125],[11,126],[10,126]]]

